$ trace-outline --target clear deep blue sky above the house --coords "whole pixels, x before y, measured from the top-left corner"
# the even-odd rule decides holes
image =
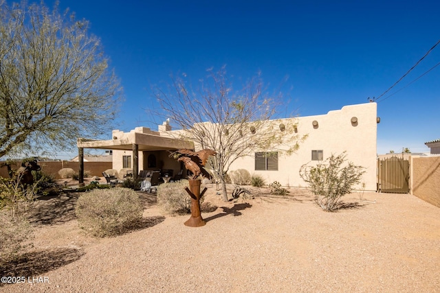
[[[124,131],[151,126],[148,89],[169,83],[170,73],[197,82],[223,65],[243,80],[261,71],[269,88],[281,86],[287,115],[321,115],[379,97],[440,39],[434,0],[61,0],[60,7],[89,20],[100,37],[124,87]],[[439,62],[440,45],[378,100],[379,154],[428,152],[424,143],[440,139],[440,66],[426,73]]]

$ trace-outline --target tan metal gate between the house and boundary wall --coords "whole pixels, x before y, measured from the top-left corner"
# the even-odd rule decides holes
[[[393,156],[377,160],[377,191],[391,194],[408,194],[410,163]]]

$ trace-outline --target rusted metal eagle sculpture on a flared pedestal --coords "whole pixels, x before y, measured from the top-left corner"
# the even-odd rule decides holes
[[[199,175],[206,178],[211,177],[204,167],[209,156],[214,156],[217,153],[208,149],[199,152],[182,149],[177,150],[174,154],[179,155],[177,161],[183,162],[185,168],[192,173],[192,175],[188,177],[189,188],[185,188],[186,192],[188,192],[191,197],[191,218],[189,218],[184,224],[190,227],[204,226],[206,222],[201,218],[200,198],[205,194],[206,187],[200,192],[201,180],[199,179]]]

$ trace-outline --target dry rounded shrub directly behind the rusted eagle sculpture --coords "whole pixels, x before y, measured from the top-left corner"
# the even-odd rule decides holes
[[[185,190],[188,180],[161,184],[157,187],[157,205],[170,215],[191,212],[191,198]],[[200,188],[203,190],[203,187]],[[204,196],[200,198],[200,204]]]

